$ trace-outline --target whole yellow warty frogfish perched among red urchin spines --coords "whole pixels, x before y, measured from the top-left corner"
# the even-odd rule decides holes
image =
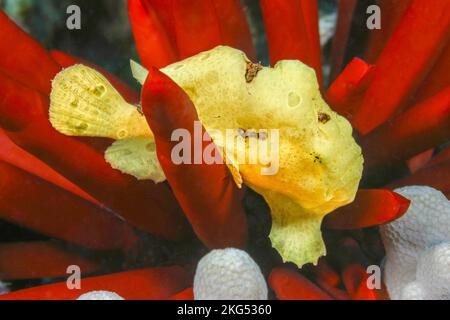
[[[78,68],[84,70],[84,74],[95,73],[96,76],[91,78],[101,77],[88,67]],[[136,63],[132,63],[132,71],[135,78],[144,83],[147,71]],[[220,46],[161,71],[189,95],[203,126],[222,149],[237,184],[243,181],[267,201],[272,213],[270,239],[283,259],[299,267],[317,263],[318,258],[325,254],[321,221],[329,212],[353,201],[362,175],[363,157],[352,137],[351,125],[322,99],[313,69],[296,60],[280,61],[273,68],[260,67],[252,64],[243,52]],[[69,77],[71,73],[77,76]],[[84,85],[84,89],[71,89],[65,78],[74,83],[74,77],[86,79],[80,75],[80,70],[68,68],[54,80],[50,121],[55,128],[72,135],[88,133],[125,138],[121,140],[120,148],[126,152],[107,151],[108,162],[139,179],[153,177],[155,180],[157,177],[158,181],[163,180],[164,175],[157,173],[161,169],[155,164],[156,153],[142,152],[143,145],[154,150],[151,147],[153,136],[145,119],[142,120],[143,116],[136,107],[116,98],[117,92],[104,83],[106,79],[99,83],[107,92],[112,92],[109,99],[105,99],[103,104],[95,100],[95,104],[84,106],[82,112],[86,113],[85,116],[77,113],[72,117],[68,111],[71,100],[64,98],[64,92],[72,92],[70,97],[73,100],[80,91],[90,97],[95,92],[89,88],[96,87],[94,81]],[[73,125],[74,117],[83,132],[73,130],[77,127]],[[99,122],[105,122],[108,129],[93,125],[91,130],[92,121],[97,127]],[[224,140],[230,130],[234,130],[237,140],[242,140],[232,149]],[[268,135],[265,139],[242,137],[242,132],[248,130],[268,130]],[[277,141],[270,130],[277,130]],[[126,134],[120,137],[117,132]],[[136,140],[134,137],[141,137],[139,143],[133,142]],[[262,174],[262,170],[269,166],[267,163],[249,164],[237,160],[242,148],[248,152],[251,143],[259,147],[268,142],[277,142],[276,174]],[[111,148],[117,149],[117,145]],[[142,160],[132,161],[136,157]],[[149,172],[150,167],[152,172]]]

